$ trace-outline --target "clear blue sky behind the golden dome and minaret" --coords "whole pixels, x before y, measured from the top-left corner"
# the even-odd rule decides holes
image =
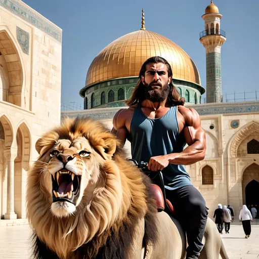
[[[61,102],[83,104],[79,90],[96,55],[114,39],[140,29],[141,9],[146,28],[176,42],[195,62],[206,88],[205,49],[199,32],[201,16],[210,0],[24,0],[63,30]],[[221,29],[227,41],[222,47],[223,93],[258,91],[258,0],[214,0],[223,15]],[[253,94],[254,95],[254,94]],[[205,95],[202,96],[204,98]]]

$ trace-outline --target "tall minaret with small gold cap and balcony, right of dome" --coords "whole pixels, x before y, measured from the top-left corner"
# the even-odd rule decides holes
[[[205,30],[200,33],[200,42],[206,49],[206,103],[222,102],[221,46],[226,41],[226,33],[221,30],[222,15],[212,3],[201,17]]]

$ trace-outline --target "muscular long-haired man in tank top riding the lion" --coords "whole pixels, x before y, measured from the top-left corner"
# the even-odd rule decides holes
[[[113,118],[112,133],[132,144],[132,158],[148,162],[148,169],[161,170],[166,198],[174,205],[188,239],[187,257],[198,258],[207,220],[205,201],[193,187],[184,165],[205,156],[205,134],[198,113],[184,107],[172,84],[172,70],[161,57],[142,65],[130,106]],[[186,143],[189,145],[183,150]]]

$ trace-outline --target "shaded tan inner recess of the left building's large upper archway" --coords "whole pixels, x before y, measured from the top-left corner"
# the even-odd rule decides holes
[[[24,107],[22,64],[15,44],[6,30],[0,30],[0,65],[8,79],[7,87],[3,88],[2,100]]]

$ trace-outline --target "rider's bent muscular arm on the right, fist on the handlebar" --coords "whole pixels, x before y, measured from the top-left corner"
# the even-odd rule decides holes
[[[185,126],[183,134],[188,147],[181,153],[171,153],[151,157],[148,168],[152,171],[162,170],[169,163],[189,165],[202,160],[206,151],[205,133],[201,127],[199,114],[194,109],[182,107],[179,112],[183,115]]]

